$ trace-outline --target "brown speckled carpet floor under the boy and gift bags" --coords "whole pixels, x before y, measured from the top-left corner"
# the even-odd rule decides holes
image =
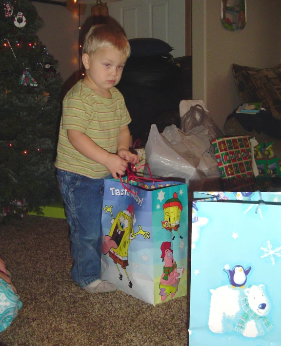
[[[90,294],[70,275],[64,219],[0,225],[0,254],[23,307],[0,346],[187,346],[187,297],[152,306],[121,291]]]

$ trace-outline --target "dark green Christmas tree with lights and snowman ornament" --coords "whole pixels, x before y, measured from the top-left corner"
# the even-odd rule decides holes
[[[55,155],[62,80],[29,0],[0,0],[0,215],[60,199]]]

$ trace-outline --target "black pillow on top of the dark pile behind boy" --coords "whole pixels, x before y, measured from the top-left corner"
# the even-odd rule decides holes
[[[170,53],[172,48],[167,42],[159,39],[131,39],[131,57],[151,57],[153,55],[162,55]]]

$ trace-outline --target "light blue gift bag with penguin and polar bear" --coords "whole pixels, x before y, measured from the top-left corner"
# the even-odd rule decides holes
[[[189,346],[281,345],[280,223],[281,193],[194,194]]]

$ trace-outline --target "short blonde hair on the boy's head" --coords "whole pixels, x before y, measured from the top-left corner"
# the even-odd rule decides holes
[[[98,48],[116,48],[129,58],[130,43],[122,28],[108,24],[93,25],[85,36],[82,54],[95,54]]]

